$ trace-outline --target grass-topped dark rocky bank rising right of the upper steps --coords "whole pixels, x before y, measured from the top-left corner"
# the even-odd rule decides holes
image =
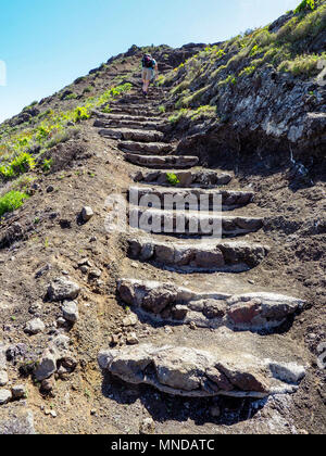
[[[181,64],[164,79],[180,135],[191,118],[206,122],[180,147],[206,153],[211,164],[249,155],[260,168],[298,162],[309,178],[324,173],[325,42],[326,4],[318,1],[314,11],[290,12]]]

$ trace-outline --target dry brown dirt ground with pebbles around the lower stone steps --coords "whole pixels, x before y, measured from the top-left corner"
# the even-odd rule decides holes
[[[271,246],[269,255],[260,266],[241,275],[242,282],[248,281],[252,291],[264,287],[309,303],[292,325],[279,329],[283,337],[298,342],[298,347],[304,345],[310,353],[310,366],[299,391],[268,401],[168,396],[151,388],[103,378],[98,367],[98,352],[109,346],[111,337],[123,334],[122,341],[125,338],[123,319],[128,311],[116,297],[115,281],[137,275],[183,284],[191,281],[200,288],[206,282],[202,275],[185,278],[135,263],[126,257],[125,235],[106,232],[105,199],[115,193],[126,194],[130,174],[137,167],[127,164],[116,141],[101,138],[92,123],[90,119],[83,124],[77,139],[58,147],[51,174],[39,177],[34,197],[0,226],[1,238],[14,223],[25,231],[23,239],[9,242],[11,245],[2,242],[0,250],[0,340],[5,344],[25,343],[26,358],[37,358],[61,315],[59,305],[46,300],[51,279],[66,274],[83,287],[80,318],[68,332],[78,360],[76,370],[58,379],[53,392],[45,395],[30,377],[20,376],[20,364],[8,363],[10,383],[25,383],[28,388],[27,400],[16,406],[33,411],[38,433],[137,434],[148,417],[154,419],[155,432],[162,434],[324,433],[325,369],[317,366],[317,346],[326,342],[325,182],[299,185],[293,190],[287,169],[262,178],[243,167],[229,186],[255,190],[255,204],[247,208],[247,214],[264,215],[266,224],[264,230],[248,239]],[[85,205],[92,207],[95,216],[82,225],[78,215]],[[78,262],[85,257],[102,270],[100,286],[95,287],[78,269]],[[46,265],[51,267],[36,278]],[[209,280],[211,284],[225,283],[237,290],[236,279],[233,282],[225,274],[213,274]],[[35,304],[40,305],[47,330],[30,337],[24,332],[24,326],[33,318],[30,306]],[[147,322],[139,322],[136,331],[140,340],[168,338],[164,328],[153,328]],[[185,328],[186,337],[187,331]],[[221,415],[214,417],[212,407],[218,407]],[[57,417],[49,415],[49,410],[55,411]]]

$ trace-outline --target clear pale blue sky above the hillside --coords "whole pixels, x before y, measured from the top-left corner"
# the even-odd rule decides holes
[[[131,45],[216,42],[299,0],[11,0],[0,12],[0,122]],[[7,67],[7,86],[3,63]]]

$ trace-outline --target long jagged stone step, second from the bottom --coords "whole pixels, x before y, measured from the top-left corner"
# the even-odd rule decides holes
[[[273,330],[304,305],[302,300],[276,293],[198,293],[173,283],[136,279],[120,280],[117,291],[125,304],[154,320],[233,331]]]

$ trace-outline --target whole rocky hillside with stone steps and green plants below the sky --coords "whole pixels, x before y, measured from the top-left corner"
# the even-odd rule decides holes
[[[325,432],[325,42],[303,1],[133,46],[0,125],[0,434]],[[171,195],[210,214],[180,233]]]

